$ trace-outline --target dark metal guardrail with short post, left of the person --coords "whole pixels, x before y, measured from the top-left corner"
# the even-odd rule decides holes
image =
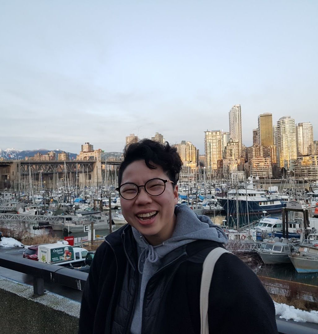
[[[0,254],[0,267],[33,276],[34,296],[44,294],[44,280],[82,291],[88,277],[87,273],[74,269],[7,254]]]

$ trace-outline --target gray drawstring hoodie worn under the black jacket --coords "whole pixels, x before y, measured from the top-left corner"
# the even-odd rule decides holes
[[[197,215],[185,204],[175,207],[177,216],[176,227],[170,239],[157,246],[150,245],[134,228],[132,232],[137,242],[139,284],[134,315],[131,323],[131,333],[141,333],[142,303],[145,289],[150,278],[161,268],[162,259],[174,249],[195,240],[212,240],[227,243],[223,229],[214,225],[205,215]],[[139,298],[138,298],[139,297]]]

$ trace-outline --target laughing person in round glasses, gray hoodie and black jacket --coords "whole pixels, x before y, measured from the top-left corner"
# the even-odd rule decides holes
[[[149,139],[126,146],[118,173],[128,222],[97,249],[83,292],[80,334],[200,333],[200,284],[222,228],[178,203],[182,161]],[[209,296],[212,333],[277,333],[274,303],[236,256],[217,261]]]

